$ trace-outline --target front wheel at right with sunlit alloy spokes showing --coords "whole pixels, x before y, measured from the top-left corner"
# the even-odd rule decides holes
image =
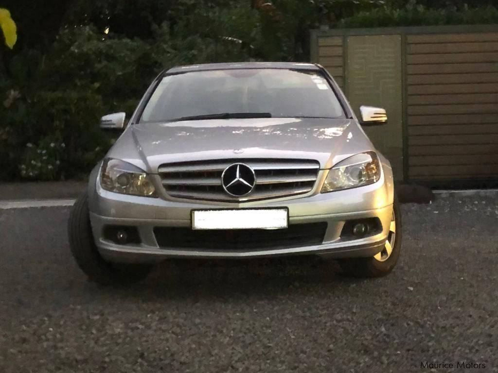
[[[394,197],[389,235],[384,248],[372,258],[342,259],[339,264],[345,275],[355,277],[383,277],[392,272],[401,253],[401,211]]]

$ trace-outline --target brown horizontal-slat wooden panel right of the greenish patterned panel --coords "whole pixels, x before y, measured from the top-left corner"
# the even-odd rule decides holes
[[[409,179],[498,177],[498,32],[406,40]]]

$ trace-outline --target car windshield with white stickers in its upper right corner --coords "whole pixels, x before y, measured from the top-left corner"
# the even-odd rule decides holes
[[[239,116],[230,116],[232,113]],[[341,118],[344,111],[327,80],[318,72],[215,70],[164,77],[145,106],[140,122],[202,120],[211,119],[211,115]]]

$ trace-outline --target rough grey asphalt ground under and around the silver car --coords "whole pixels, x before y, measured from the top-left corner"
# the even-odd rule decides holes
[[[498,372],[498,197],[403,206],[379,280],[303,258],[171,261],[103,288],[69,254],[68,213],[0,210],[0,372]],[[462,361],[481,368],[420,367]]]

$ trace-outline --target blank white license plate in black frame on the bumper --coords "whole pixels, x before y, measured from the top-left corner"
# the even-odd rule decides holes
[[[284,229],[288,217],[286,208],[193,210],[192,229]]]

